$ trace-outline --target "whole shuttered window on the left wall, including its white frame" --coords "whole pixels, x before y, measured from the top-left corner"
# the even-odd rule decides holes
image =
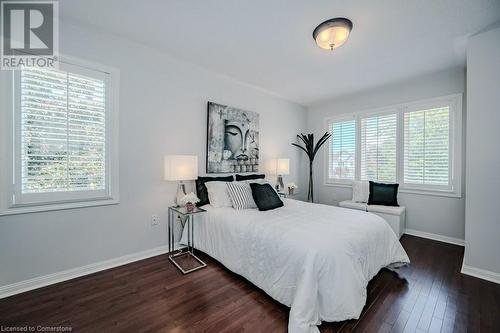
[[[113,75],[62,62],[57,70],[23,69],[12,78],[14,179],[8,206],[116,202]]]

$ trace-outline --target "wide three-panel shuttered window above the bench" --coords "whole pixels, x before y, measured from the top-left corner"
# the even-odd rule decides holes
[[[461,196],[461,106],[460,94],[329,119],[326,183],[396,182],[401,192]]]

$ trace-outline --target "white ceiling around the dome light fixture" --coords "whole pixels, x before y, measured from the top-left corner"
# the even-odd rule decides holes
[[[500,0],[64,0],[60,12],[311,105],[465,67],[467,36],[500,20]],[[321,50],[312,31],[338,16],[351,36]]]

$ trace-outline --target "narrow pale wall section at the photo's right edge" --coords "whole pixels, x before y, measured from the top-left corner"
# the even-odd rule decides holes
[[[467,110],[464,265],[500,281],[500,28],[469,41]]]

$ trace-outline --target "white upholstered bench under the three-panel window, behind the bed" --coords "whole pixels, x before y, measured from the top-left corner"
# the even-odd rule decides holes
[[[379,205],[368,205],[363,202],[354,202],[352,200],[346,200],[339,202],[340,207],[364,210],[365,212],[374,213],[389,223],[392,230],[396,236],[401,237],[405,232],[406,228],[406,208],[399,206],[379,206]]]

